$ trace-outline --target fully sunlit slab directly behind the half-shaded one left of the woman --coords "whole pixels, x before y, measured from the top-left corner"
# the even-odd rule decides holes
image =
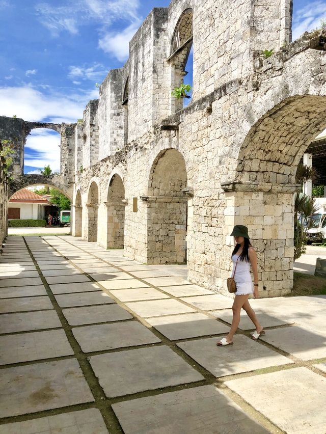
[[[148,318],[151,316],[163,316],[163,315],[173,315],[177,313],[195,312],[183,303],[177,300],[153,300],[150,302],[134,302],[126,303],[130,309],[135,313],[142,316],[143,318]]]

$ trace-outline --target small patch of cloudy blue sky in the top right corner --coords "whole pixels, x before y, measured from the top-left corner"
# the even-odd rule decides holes
[[[321,20],[326,18],[325,2],[316,0],[299,9],[293,15],[292,40],[294,41],[303,33],[321,27]]]

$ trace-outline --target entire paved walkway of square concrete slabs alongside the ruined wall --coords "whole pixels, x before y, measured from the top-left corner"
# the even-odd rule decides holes
[[[0,257],[0,432],[324,434],[326,297],[232,300],[71,236]]]

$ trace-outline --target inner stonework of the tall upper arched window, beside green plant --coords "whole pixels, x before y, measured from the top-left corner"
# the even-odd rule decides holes
[[[171,89],[180,86],[187,74],[185,70],[193,45],[193,9],[187,7],[181,13],[171,41],[169,62],[171,65]],[[171,96],[171,111],[177,112],[183,108],[183,98]]]

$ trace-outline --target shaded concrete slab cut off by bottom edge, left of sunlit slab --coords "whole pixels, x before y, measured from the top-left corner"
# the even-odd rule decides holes
[[[125,434],[267,434],[214,386],[201,386],[112,405]]]

